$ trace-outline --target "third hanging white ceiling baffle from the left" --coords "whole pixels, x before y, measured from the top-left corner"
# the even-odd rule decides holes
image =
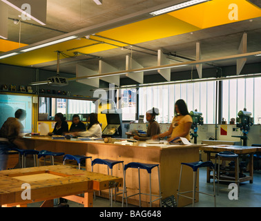
[[[126,55],[126,70],[136,69],[136,68],[144,68],[141,64],[131,58],[130,55]],[[140,72],[139,75],[135,73],[127,73],[126,77],[129,77],[139,84],[143,84],[144,82],[144,72]]]

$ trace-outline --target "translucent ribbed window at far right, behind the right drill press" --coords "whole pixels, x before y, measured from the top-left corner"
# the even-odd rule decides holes
[[[247,108],[254,124],[261,123],[261,78],[231,79],[223,81],[222,117],[229,123],[238,112]]]

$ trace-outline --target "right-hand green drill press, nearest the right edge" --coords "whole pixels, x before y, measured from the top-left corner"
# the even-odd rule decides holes
[[[249,133],[250,126],[253,126],[253,117],[251,117],[251,115],[252,113],[244,108],[244,111],[238,112],[238,117],[236,119],[236,127],[240,128],[243,135],[232,137],[240,137],[240,140],[243,140],[243,146],[247,146],[247,134]]]

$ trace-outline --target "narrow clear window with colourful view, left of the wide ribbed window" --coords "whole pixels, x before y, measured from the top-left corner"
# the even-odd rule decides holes
[[[117,90],[117,108],[122,109],[123,121],[134,121],[136,119],[136,93],[135,88]]]

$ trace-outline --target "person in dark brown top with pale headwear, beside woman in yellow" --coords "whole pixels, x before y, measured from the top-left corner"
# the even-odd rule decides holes
[[[158,108],[152,108],[151,110],[146,112],[146,121],[148,122],[146,137],[135,135],[133,137],[135,140],[151,140],[151,137],[160,134],[160,124],[155,121],[155,117],[157,115],[160,115],[160,111]]]

